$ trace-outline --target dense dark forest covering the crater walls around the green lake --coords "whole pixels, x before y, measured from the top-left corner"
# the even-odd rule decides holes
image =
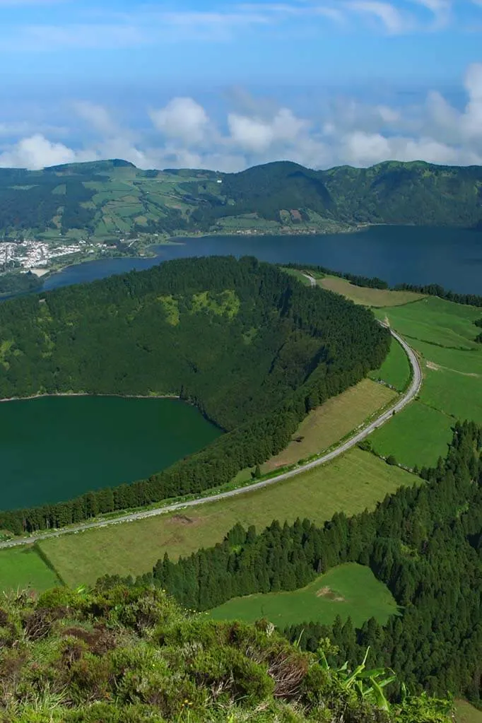
[[[226,432],[150,479],[0,513],[14,534],[231,482],[390,346],[368,310],[249,257],[175,260],[24,296],[1,304],[0,329],[1,398],[179,395]]]

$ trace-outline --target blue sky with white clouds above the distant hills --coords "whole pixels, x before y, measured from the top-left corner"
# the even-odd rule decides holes
[[[0,165],[482,162],[482,0],[0,0]]]

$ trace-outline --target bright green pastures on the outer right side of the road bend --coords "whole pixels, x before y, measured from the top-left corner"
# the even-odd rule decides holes
[[[424,379],[419,401],[371,437],[374,449],[408,466],[435,464],[456,419],[482,422],[482,346],[473,341],[482,311],[431,296],[376,315],[418,352]]]

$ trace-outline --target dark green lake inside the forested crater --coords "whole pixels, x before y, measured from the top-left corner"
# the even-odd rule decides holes
[[[0,509],[134,482],[220,435],[176,399],[44,397],[0,403]]]

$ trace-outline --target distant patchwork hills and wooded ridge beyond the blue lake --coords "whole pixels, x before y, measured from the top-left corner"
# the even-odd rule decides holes
[[[482,168],[413,162],[238,174],[140,171],[125,161],[0,169],[0,236],[346,230],[360,223],[482,223]]]

